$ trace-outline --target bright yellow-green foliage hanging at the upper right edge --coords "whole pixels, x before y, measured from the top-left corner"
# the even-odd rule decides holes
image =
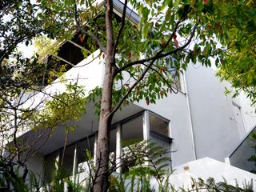
[[[237,14],[242,18],[234,17]],[[236,2],[222,10],[221,15],[228,15],[231,22],[226,33],[229,50],[226,61],[218,66],[218,76],[231,82],[234,97],[243,90],[253,105],[256,102],[256,3]],[[226,21],[223,22],[226,26]]]

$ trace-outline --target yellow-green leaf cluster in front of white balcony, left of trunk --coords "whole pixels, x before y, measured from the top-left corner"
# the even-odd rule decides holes
[[[86,113],[86,98],[83,86],[77,83],[66,85],[66,91],[62,94],[54,94],[52,100],[45,102],[45,107],[30,116],[34,123],[31,129],[53,127],[58,123],[63,126],[67,122],[77,121]],[[66,126],[70,129],[70,126]],[[74,127],[73,129],[74,130]]]

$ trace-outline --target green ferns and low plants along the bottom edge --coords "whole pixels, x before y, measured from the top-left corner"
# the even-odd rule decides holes
[[[140,148],[137,148],[140,147]],[[145,150],[146,149],[146,150]],[[129,171],[127,171],[124,174],[110,174],[109,180],[110,180],[110,186],[108,190],[111,191],[119,191],[119,192],[125,192],[125,191],[138,191],[138,192],[153,192],[153,191],[182,191],[182,192],[190,192],[190,191],[241,191],[241,192],[250,192],[252,190],[252,183],[245,183],[245,186],[241,188],[236,184],[235,186],[232,186],[226,182],[225,179],[223,179],[223,182],[215,182],[214,178],[208,178],[206,181],[201,178],[191,178],[191,186],[189,188],[177,188],[174,187],[170,183],[170,175],[168,173],[168,170],[166,169],[166,166],[159,167],[159,161],[162,161],[164,158],[164,155],[166,154],[166,150],[163,149],[161,146],[157,146],[154,143],[147,142],[139,142],[136,145],[130,146],[130,152],[126,152],[126,154],[122,157],[127,158],[128,155],[130,159],[134,158],[138,164],[134,167],[131,167]],[[161,151],[161,152],[159,152]],[[90,156],[90,154],[88,153]],[[160,157],[160,158],[159,158]],[[89,157],[90,158],[90,157]],[[92,158],[90,158],[92,160]],[[123,160],[122,159],[122,160]],[[146,160],[147,159],[147,160]],[[143,161],[142,161],[143,160]],[[149,166],[145,166],[145,162],[150,162]],[[133,160],[131,160],[133,161]],[[90,161],[90,164],[93,167],[94,162]],[[12,172],[9,169],[13,169],[13,166],[10,166],[8,170],[4,170],[4,167],[1,166],[1,177],[0,177],[0,189],[6,191],[21,191],[21,192],[28,192],[28,191],[43,191],[43,192],[60,192],[63,191],[64,187],[66,186],[66,190],[70,192],[82,192],[82,191],[92,191],[93,188],[90,188],[90,186],[83,186],[79,182],[76,182],[76,179],[68,178],[66,171],[62,169],[62,166],[59,166],[58,163],[55,165],[58,165],[53,170],[53,178],[52,182],[50,183],[44,183],[41,186],[39,185],[42,178],[35,177],[33,173],[30,173],[30,183],[26,182],[24,179],[19,176],[18,172]],[[125,165],[122,165],[125,166]],[[155,167],[158,167],[157,169]],[[94,168],[93,168],[94,169]],[[95,170],[91,170],[95,171]],[[158,173],[160,174],[158,174]],[[86,180],[90,183],[90,178],[93,175],[89,175]],[[152,186],[151,181],[153,180],[158,181],[158,189],[156,189],[157,186]],[[90,180],[90,181],[89,181]],[[6,185],[6,182],[10,182],[9,187],[12,186],[12,188],[9,188]],[[43,183],[43,182],[42,182]],[[7,187],[6,187],[7,186]]]

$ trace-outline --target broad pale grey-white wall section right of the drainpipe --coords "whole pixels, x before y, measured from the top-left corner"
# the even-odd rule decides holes
[[[226,82],[219,82],[211,68],[190,65],[186,71],[197,158],[210,157],[224,162],[240,141]]]

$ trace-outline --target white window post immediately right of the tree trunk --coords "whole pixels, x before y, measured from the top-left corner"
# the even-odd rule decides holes
[[[122,172],[122,168],[121,168],[121,165],[122,165],[122,144],[121,144],[121,141],[122,141],[122,125],[121,123],[118,123],[117,125],[117,137],[116,137],[116,166],[117,166],[117,169],[116,169],[116,172],[118,174],[121,174]]]

